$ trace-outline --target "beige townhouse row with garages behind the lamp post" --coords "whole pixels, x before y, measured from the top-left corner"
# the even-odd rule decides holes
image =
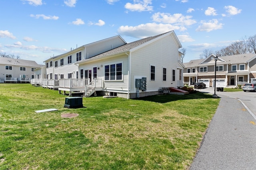
[[[207,87],[214,86],[215,55],[206,59],[191,60],[183,63],[184,84],[193,85],[204,82]],[[223,82],[226,87],[236,87],[249,82],[256,82],[256,54],[240,54],[218,57],[216,62],[216,82]],[[216,85],[217,87],[217,85]]]

